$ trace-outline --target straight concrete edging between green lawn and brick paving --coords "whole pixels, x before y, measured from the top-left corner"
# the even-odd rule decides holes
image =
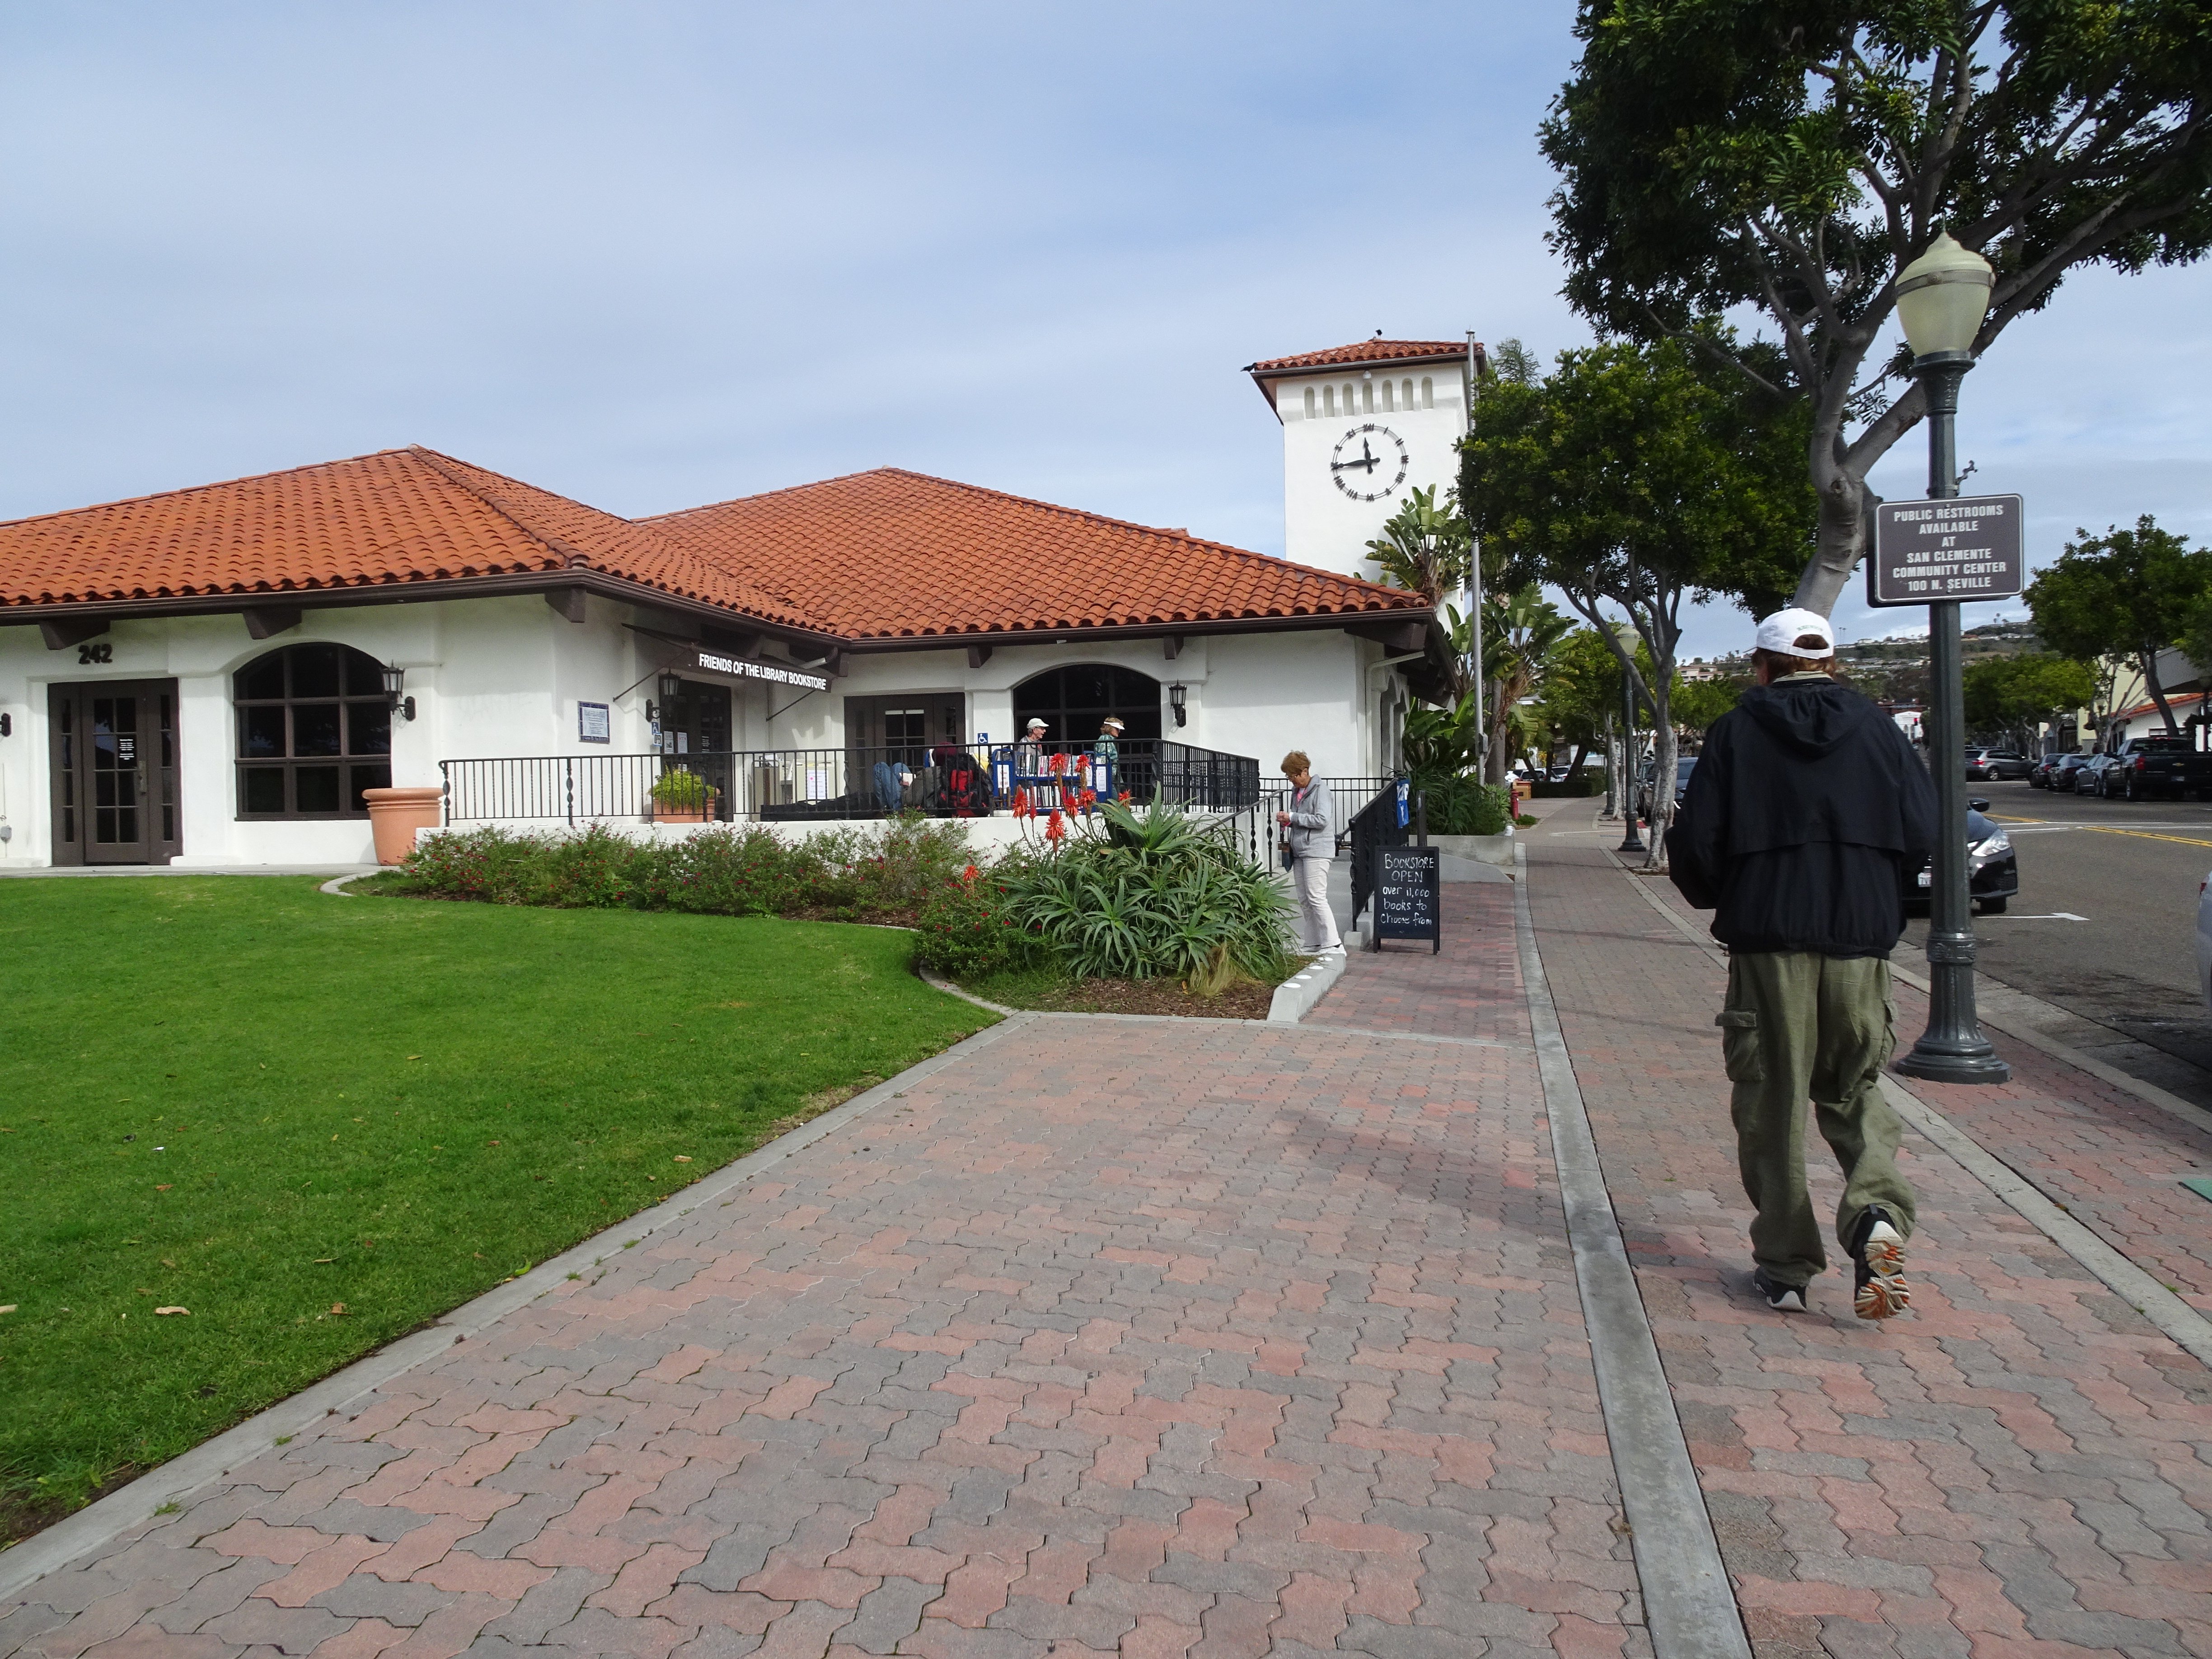
[[[321,1383],[307,1385],[288,1400],[279,1400],[265,1411],[257,1411],[246,1418],[246,1422],[226,1429],[212,1440],[201,1440],[190,1451],[170,1458],[159,1469],[150,1469],[128,1486],[119,1486],[106,1498],[86,1504],[77,1513],[58,1520],[46,1531],[35,1533],[22,1544],[0,1553],[0,1601],[15,1599],[46,1573],[69,1566],[86,1551],[95,1551],[102,1544],[113,1542],[133,1526],[155,1520],[155,1511],[164,1504],[177,1502],[201,1486],[215,1484],[223,1475],[265,1453],[281,1436],[299,1436],[314,1429],[323,1418],[343,1411],[372,1389],[411,1371],[425,1360],[438,1358],[456,1343],[480,1334],[495,1318],[538,1301],[549,1290],[557,1290],[568,1281],[568,1274],[586,1274],[599,1265],[602,1259],[619,1256],[630,1243],[644,1243],[655,1232],[666,1232],[695,1210],[701,1210],[717,1199],[728,1199],[728,1194],[737,1188],[783,1164],[783,1159],[792,1152],[812,1146],[825,1135],[834,1135],[856,1117],[865,1117],[885,1102],[902,1097],[914,1084],[945,1071],[951,1064],[958,1064],[960,1060],[967,1060],[978,1048],[989,1048],[1009,1031],[1020,1031],[1035,1022],[1035,1018],[1037,1015],[1015,1015],[1002,1024],[987,1026],[969,1037],[962,1037],[951,1048],[940,1048],[927,1060],[918,1060],[896,1077],[854,1095],[843,1106],[832,1106],[827,1113],[801,1124],[790,1135],[779,1135],[768,1146],[745,1152],[745,1157],[734,1164],[723,1164],[719,1170],[699,1177],[699,1181],[670,1194],[650,1210],[639,1210],[626,1221],[617,1221],[604,1232],[595,1232],[562,1254],[538,1263],[526,1274],[509,1279],[504,1285],[495,1285],[482,1296],[465,1301],[460,1307],[436,1318],[429,1329],[416,1329],[396,1338],[387,1347],[354,1360],[343,1371],[332,1371]]]

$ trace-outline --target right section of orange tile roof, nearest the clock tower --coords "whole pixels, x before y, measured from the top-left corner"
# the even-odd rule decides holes
[[[644,522],[847,639],[1427,608],[1402,588],[896,467]]]

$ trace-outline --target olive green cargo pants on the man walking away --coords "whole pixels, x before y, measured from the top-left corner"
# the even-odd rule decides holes
[[[1898,1232],[1913,1232],[1913,1190],[1898,1175],[1905,1126],[1882,1099],[1880,1073],[1896,1046],[1889,962],[1878,956],[1745,951],[1728,958],[1721,1057],[1734,1084],[1736,1166],[1759,1210],[1752,1261],[1781,1285],[1827,1270],[1820,1223],[1805,1190],[1805,1102],[1843,1166],[1836,1239],[1880,1203]]]

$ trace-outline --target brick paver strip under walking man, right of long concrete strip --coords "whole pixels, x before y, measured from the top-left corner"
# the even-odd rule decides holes
[[[1913,1314],[1754,1301],[1723,973],[1584,847],[1531,867],[1544,967],[1761,1657],[2212,1652],[2212,1374],[1918,1135]]]

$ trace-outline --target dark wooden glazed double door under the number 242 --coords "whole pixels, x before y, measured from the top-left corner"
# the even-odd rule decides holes
[[[177,681],[51,686],[46,712],[53,863],[166,865],[184,852]]]

